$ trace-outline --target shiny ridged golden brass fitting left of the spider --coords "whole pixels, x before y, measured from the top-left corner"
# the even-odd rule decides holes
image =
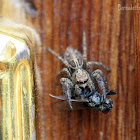
[[[3,29],[0,28],[0,139],[36,139],[32,45]]]

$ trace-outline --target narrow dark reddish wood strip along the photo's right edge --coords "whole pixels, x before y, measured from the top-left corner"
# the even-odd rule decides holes
[[[134,6],[140,5],[140,1],[136,0],[133,3]],[[134,11],[134,46],[135,46],[135,92],[136,92],[136,136],[137,139],[140,139],[140,13],[139,11]]]

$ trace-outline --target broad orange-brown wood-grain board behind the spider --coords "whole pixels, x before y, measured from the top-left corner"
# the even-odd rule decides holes
[[[18,22],[32,25],[41,36],[42,46],[49,46],[61,55],[69,45],[82,51],[82,30],[85,29],[88,60],[101,61],[112,69],[111,73],[105,71],[104,73],[109,88],[117,92],[116,96],[111,97],[114,107],[108,114],[95,110],[60,110],[58,105],[63,102],[51,98],[49,94],[62,94],[59,84],[56,84],[59,83],[56,74],[64,65],[43,49],[40,63],[43,94],[38,98],[42,103],[41,107],[38,105],[38,110],[42,110],[38,120],[38,139],[135,140],[133,11],[118,9],[118,4],[130,6],[132,2],[130,0],[32,2],[38,12],[36,17],[26,10],[21,11],[22,14],[18,11],[16,15],[10,10],[10,15],[15,15]],[[138,34],[137,17],[138,15],[135,15],[137,22],[134,26],[137,31],[135,36]],[[136,42],[138,49],[138,39]]]

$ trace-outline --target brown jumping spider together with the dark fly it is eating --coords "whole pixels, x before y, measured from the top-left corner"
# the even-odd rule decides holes
[[[67,78],[61,78],[60,83],[64,96],[54,96],[54,98],[67,100],[73,110],[72,101],[83,102],[88,107],[101,111],[110,111],[113,101],[106,98],[106,95],[116,94],[112,90],[107,90],[107,82],[100,69],[92,71],[92,66],[102,67],[110,71],[108,67],[100,62],[87,61],[87,45],[85,31],[83,31],[83,55],[76,49],[67,47],[64,58],[58,55],[51,48],[49,52],[61,60],[66,68],[63,68],[58,75],[65,73]]]

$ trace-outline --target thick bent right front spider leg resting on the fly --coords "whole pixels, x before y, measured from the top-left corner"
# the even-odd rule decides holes
[[[98,86],[102,91],[102,99],[101,100],[104,100],[106,98],[106,88],[105,88],[106,83],[105,83],[105,77],[103,75],[103,72],[101,70],[97,69],[91,74],[91,76],[93,78],[95,78],[95,80],[97,81]]]

